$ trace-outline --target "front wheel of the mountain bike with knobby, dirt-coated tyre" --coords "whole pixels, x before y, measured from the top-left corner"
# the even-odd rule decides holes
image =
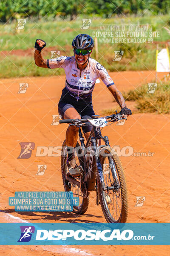
[[[122,164],[111,147],[100,150],[103,180],[97,175],[97,189],[102,212],[107,222],[126,222],[128,213],[127,186]]]

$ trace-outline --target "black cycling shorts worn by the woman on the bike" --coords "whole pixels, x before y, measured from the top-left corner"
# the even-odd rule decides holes
[[[91,97],[87,99],[79,99],[71,96],[70,94],[65,94],[65,90],[62,90],[62,96],[58,104],[58,113],[64,119],[64,113],[68,108],[75,108],[82,119],[91,118],[92,115],[95,115],[93,110],[93,105],[91,102]],[[87,122],[86,126],[82,126],[84,133],[92,130],[92,125]]]

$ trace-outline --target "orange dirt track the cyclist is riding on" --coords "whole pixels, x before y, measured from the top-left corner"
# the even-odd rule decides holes
[[[111,73],[120,91],[133,89],[146,81],[151,82],[154,76],[155,73],[150,71]],[[19,83],[22,82],[28,83],[25,94],[17,93]],[[51,125],[52,115],[58,114],[57,103],[65,77],[2,79],[0,83],[0,221],[105,222],[100,206],[96,206],[95,192],[90,195],[88,211],[81,216],[67,212],[16,213],[14,207],[8,206],[8,197],[14,196],[15,191],[63,190],[59,157],[36,157],[36,150],[37,146],[61,146],[65,139],[67,125]],[[102,82],[95,85],[93,103],[96,114],[115,106]],[[133,114],[125,125],[108,126],[102,131],[103,135],[109,136],[112,146],[132,146],[134,152],[154,153],[153,157],[121,157],[129,193],[128,222],[170,220],[169,131],[170,115],[143,113]],[[29,159],[17,159],[20,142],[35,143]],[[47,165],[44,175],[36,175],[37,164]],[[142,207],[135,207],[136,196],[146,197]],[[79,251],[83,250],[91,255],[107,256],[165,256],[170,253],[169,246],[6,246],[0,247],[0,255],[70,255],[73,253],[71,248],[76,248],[74,254],[82,254]]]

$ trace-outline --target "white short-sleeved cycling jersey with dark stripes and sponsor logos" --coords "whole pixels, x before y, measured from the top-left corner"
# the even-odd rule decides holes
[[[98,78],[107,87],[114,84],[107,70],[99,62],[90,57],[87,67],[81,72],[81,77],[74,56],[61,56],[47,60],[47,66],[48,68],[63,68],[65,70],[65,88],[77,99],[85,99],[91,96],[96,79]]]

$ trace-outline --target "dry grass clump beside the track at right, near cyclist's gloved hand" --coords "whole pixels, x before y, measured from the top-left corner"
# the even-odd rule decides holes
[[[126,101],[135,101],[136,109],[141,113],[170,113],[170,86],[157,84],[154,93],[147,93],[148,85],[122,93]]]

